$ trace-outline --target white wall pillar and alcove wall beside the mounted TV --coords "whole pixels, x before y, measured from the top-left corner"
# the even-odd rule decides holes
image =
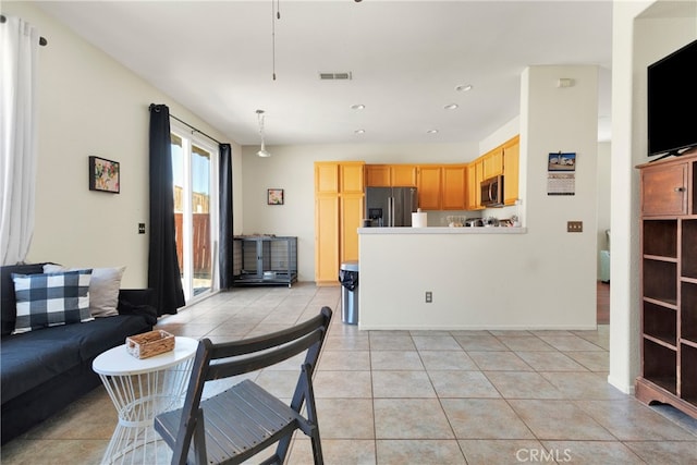
[[[615,1],[612,49],[610,374],[623,392],[639,374],[639,175],[648,161],[646,66],[697,38],[697,2]]]

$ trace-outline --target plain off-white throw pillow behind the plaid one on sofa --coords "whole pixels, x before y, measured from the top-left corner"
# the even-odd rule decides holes
[[[44,272],[75,271],[84,268],[65,268],[61,265],[44,265]],[[89,281],[89,313],[93,317],[119,315],[119,289],[126,267],[93,268]]]

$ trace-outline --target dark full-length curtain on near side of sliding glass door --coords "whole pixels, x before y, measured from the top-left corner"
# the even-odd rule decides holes
[[[148,287],[155,290],[158,316],[176,314],[184,291],[176,259],[170,109],[150,105],[150,246]]]

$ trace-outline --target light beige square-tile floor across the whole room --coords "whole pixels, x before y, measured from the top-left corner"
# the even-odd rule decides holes
[[[597,331],[360,331],[341,289],[310,283],[215,295],[157,328],[213,342],[334,309],[316,378],[327,464],[697,464],[697,420],[608,384]],[[289,395],[295,367],[255,374]],[[222,388],[222,387],[218,387]],[[212,390],[209,391],[213,392]],[[2,463],[97,464],[117,415],[103,388],[2,448]],[[289,460],[311,463],[297,438]]]

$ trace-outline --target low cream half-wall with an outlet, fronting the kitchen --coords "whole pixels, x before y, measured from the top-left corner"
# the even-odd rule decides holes
[[[595,255],[577,245],[580,234],[554,248],[534,236],[529,228],[358,228],[358,328],[596,329],[596,277],[565,272]]]

